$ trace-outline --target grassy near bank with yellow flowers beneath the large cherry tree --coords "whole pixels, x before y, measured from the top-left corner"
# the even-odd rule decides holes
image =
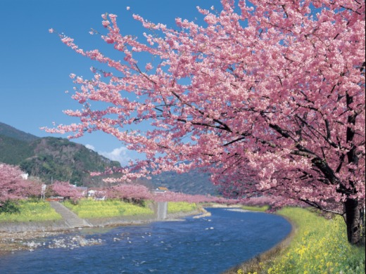
[[[348,243],[341,216],[327,219],[292,207],[277,214],[293,223],[291,242],[284,242],[227,273],[365,273],[365,247]]]

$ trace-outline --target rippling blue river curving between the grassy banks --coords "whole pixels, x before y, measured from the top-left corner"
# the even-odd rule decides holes
[[[0,273],[222,273],[270,249],[291,231],[280,216],[207,210],[212,216],[84,228],[42,239],[32,252],[0,257]]]

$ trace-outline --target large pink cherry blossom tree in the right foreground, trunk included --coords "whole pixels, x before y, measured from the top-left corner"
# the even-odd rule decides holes
[[[341,214],[349,242],[360,242],[365,1],[222,0],[222,11],[198,11],[203,25],[177,18],[174,29],[133,15],[146,41],[102,15],[101,38],[121,60],[59,34],[109,68],[93,67],[92,79],[70,75],[83,108],[65,113],[80,123],[48,131],[104,131],[146,155],[120,170],[122,181],[206,169],[226,195],[255,192]]]

